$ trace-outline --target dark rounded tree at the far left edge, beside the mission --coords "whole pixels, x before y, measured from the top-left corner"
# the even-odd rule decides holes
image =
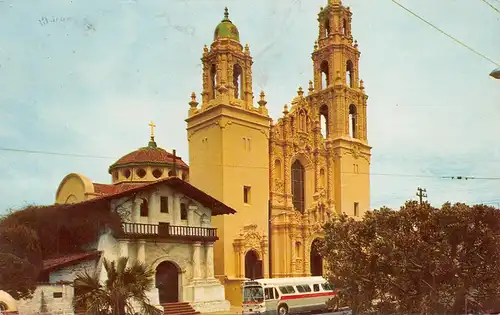
[[[0,290],[15,299],[30,298],[42,268],[38,236],[30,228],[0,222]]]

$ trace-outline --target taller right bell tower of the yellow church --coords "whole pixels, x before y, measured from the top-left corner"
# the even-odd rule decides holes
[[[370,151],[363,80],[359,78],[352,13],[341,0],[328,0],[318,14],[318,40],[312,53],[314,82],[308,95],[323,121],[323,138],[333,165],[337,212],[361,217],[370,207]]]

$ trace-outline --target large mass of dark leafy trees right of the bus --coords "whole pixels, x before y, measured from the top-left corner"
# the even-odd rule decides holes
[[[325,235],[329,280],[355,314],[460,313],[494,308],[500,296],[494,208],[409,201],[361,221],[336,217]]]

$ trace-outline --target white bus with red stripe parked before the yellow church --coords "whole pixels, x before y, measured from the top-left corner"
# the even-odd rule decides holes
[[[243,283],[243,314],[287,315],[328,311],[336,290],[323,277],[272,278]]]

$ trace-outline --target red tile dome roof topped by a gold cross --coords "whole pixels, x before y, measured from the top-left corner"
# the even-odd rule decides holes
[[[155,146],[147,146],[130,152],[121,157],[109,167],[109,172],[116,167],[137,164],[156,164],[159,166],[172,166],[174,163],[174,155],[167,152],[165,149]],[[179,168],[188,168],[188,165],[179,157],[175,157],[175,163]]]

